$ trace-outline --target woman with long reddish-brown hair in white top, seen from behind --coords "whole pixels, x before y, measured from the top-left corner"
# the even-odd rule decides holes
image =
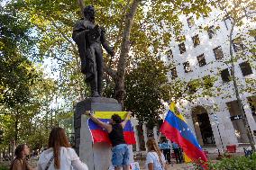
[[[38,170],[88,170],[73,148],[70,148],[65,130],[53,128],[50,131],[48,149],[41,153]]]

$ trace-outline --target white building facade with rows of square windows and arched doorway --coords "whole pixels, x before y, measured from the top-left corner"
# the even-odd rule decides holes
[[[163,58],[171,66],[168,75],[170,83],[178,79],[187,83],[196,79],[204,82],[207,77],[215,79],[213,83],[206,84],[214,95],[202,95],[192,102],[181,100],[178,103],[180,112],[185,114],[187,123],[203,148],[226,148],[229,145],[249,143],[230,78],[231,19],[224,16],[225,13],[220,10],[199,19],[193,15],[180,16],[185,40],[171,40],[168,53]],[[255,28],[255,22],[247,22],[239,28],[234,27],[232,34],[232,50],[236,58],[234,74],[254,141],[256,62],[255,53],[246,50],[252,46],[255,49],[256,38],[248,34],[251,30],[255,31]],[[193,93],[202,92],[202,89],[194,89]]]

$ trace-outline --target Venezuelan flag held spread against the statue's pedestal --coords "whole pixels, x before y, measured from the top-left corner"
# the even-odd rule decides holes
[[[124,120],[127,112],[95,112],[94,115],[100,121],[108,123],[113,114],[118,114],[122,118],[122,120]],[[88,119],[88,126],[89,126],[89,130],[91,131],[91,135],[92,135],[92,139],[93,139],[94,143],[106,142],[106,143],[111,144],[111,141],[108,138],[108,133],[105,129],[98,126],[91,119]],[[133,125],[130,120],[127,121],[127,123],[125,124],[125,127],[123,129],[123,138],[124,138],[126,144],[128,144],[128,145],[136,144],[136,141],[134,138]]]

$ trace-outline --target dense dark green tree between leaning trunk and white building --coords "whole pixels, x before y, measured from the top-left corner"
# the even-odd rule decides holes
[[[159,58],[142,59],[125,79],[126,98],[124,108],[136,115],[138,121],[156,124],[160,120],[165,93],[168,67]]]

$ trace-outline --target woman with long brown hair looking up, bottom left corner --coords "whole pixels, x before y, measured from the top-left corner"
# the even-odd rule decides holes
[[[29,154],[30,148],[26,144],[18,145],[14,151],[15,158],[10,170],[32,170],[32,167],[26,161],[26,156]]]

